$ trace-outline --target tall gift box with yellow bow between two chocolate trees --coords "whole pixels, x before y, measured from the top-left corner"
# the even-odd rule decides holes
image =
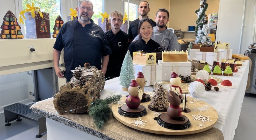
[[[21,16],[25,19],[27,38],[50,38],[49,13],[40,12],[33,2],[31,6],[26,6],[27,9],[20,12],[19,20],[23,23]]]

